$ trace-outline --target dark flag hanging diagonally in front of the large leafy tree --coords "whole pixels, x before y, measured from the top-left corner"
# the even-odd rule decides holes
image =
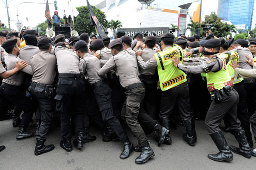
[[[93,11],[91,5],[89,4],[88,0],[87,0],[87,6],[88,6],[89,14],[90,14],[91,25],[97,27],[97,33],[98,33],[99,38],[103,38],[103,37],[107,36],[108,30],[105,28],[105,26],[101,25],[100,21],[95,16],[94,11]]]

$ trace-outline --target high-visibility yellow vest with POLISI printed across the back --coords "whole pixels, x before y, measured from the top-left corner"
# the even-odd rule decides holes
[[[178,56],[182,64],[183,52],[180,46],[174,45],[155,55],[157,71],[162,91],[166,91],[187,81],[186,75],[173,64],[173,57]]]

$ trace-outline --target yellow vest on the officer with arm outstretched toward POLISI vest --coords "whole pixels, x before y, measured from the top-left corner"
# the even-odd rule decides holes
[[[222,68],[218,72],[208,72],[206,73],[207,78],[207,87],[209,92],[218,89],[221,90],[223,87],[228,85],[233,85],[232,79],[229,76],[229,71],[227,69],[226,62],[221,57],[219,58],[222,61]],[[214,58],[213,58],[214,59]]]

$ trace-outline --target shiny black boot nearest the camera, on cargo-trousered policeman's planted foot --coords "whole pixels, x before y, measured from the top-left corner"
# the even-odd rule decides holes
[[[135,159],[135,163],[141,164],[147,162],[150,158],[155,156],[154,151],[150,148],[149,141],[141,144],[141,154]]]

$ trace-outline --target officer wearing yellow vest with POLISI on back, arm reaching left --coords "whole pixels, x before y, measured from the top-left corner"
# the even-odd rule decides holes
[[[189,104],[189,86],[184,72],[172,64],[173,56],[178,55],[180,61],[183,59],[183,52],[180,46],[174,44],[175,36],[171,33],[162,35],[162,52],[156,53],[151,59],[145,62],[141,58],[141,52],[136,52],[138,63],[141,69],[157,67],[162,93],[160,123],[169,129],[169,116],[175,106],[179,111],[186,128],[183,139],[191,146],[195,145],[195,121]],[[166,135],[163,144],[171,144],[171,137]]]

